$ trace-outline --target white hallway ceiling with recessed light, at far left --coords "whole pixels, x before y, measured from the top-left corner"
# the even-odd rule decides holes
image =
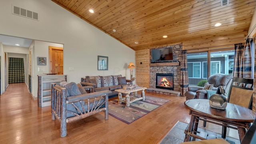
[[[26,38],[18,38],[14,36],[0,35],[0,42],[2,42],[3,45],[7,46],[16,46],[15,44],[20,44],[20,47],[29,48],[32,40]]]

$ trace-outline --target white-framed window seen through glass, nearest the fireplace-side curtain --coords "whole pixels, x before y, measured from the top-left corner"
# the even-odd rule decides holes
[[[188,68],[192,72],[188,72],[188,78],[201,78],[201,62],[188,62]]]

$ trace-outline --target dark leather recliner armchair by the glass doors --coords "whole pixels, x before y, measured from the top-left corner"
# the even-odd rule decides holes
[[[212,90],[214,90],[214,93],[219,86],[223,86],[225,92],[228,93],[232,80],[233,76],[228,74],[213,74],[209,76],[207,82],[213,84]],[[200,86],[188,86],[188,91],[184,95],[186,100],[195,98],[207,99],[207,90],[203,90],[203,87]]]

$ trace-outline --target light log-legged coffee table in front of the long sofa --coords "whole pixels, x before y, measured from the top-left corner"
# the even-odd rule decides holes
[[[118,92],[118,103],[122,104],[122,101],[125,100],[125,105],[130,106],[130,104],[132,102],[136,102],[138,100],[145,100],[144,90],[146,90],[146,89],[147,89],[146,87],[140,87],[140,86],[138,86],[132,90],[117,89],[115,91]],[[137,92],[140,90],[142,91],[141,96],[138,97]],[[132,92],[134,92],[134,96],[130,96],[130,93],[132,93]],[[125,98],[122,98],[122,94],[126,94]]]

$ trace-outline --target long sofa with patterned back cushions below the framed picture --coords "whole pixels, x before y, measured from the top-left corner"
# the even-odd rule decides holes
[[[131,84],[132,80],[126,80],[126,77],[122,75],[115,76],[86,76],[81,78],[82,86],[93,86],[93,92],[100,92],[102,90],[110,90],[112,93],[108,96],[117,95],[116,89],[123,88],[124,86]]]

